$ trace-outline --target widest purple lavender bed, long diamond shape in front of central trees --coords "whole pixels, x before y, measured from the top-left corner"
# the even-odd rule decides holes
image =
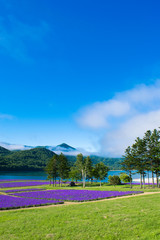
[[[46,190],[37,192],[15,193],[14,196],[38,199],[55,199],[63,201],[91,201],[103,198],[141,193],[140,191],[93,191],[93,190]]]

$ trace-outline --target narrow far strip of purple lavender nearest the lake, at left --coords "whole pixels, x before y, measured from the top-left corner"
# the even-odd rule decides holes
[[[49,181],[32,181],[32,182],[10,182],[10,183],[0,183],[0,188],[12,188],[12,187],[29,187],[29,186],[41,186],[47,185]]]

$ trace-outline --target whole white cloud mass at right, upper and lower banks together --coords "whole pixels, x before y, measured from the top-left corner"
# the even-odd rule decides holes
[[[101,153],[121,156],[136,137],[160,127],[160,81],[138,85],[117,93],[113,99],[92,104],[78,113],[77,121],[92,130],[103,128]]]

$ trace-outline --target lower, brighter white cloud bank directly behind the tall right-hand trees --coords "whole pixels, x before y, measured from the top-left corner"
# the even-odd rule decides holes
[[[160,127],[160,109],[146,114],[138,114],[120,124],[118,129],[106,132],[100,141],[101,152],[119,157],[137,137],[143,137],[147,130],[158,127]]]

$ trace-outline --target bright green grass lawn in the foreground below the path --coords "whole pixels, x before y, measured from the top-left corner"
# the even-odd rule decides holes
[[[1,211],[0,239],[159,240],[160,193],[96,203]]]

